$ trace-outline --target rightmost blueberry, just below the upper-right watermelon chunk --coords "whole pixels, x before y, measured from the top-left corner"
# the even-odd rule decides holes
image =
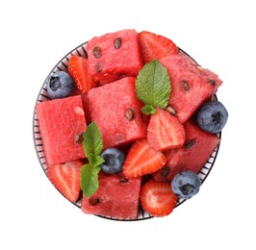
[[[226,108],[218,101],[206,102],[197,112],[198,126],[212,134],[216,134],[224,128],[227,118]]]

